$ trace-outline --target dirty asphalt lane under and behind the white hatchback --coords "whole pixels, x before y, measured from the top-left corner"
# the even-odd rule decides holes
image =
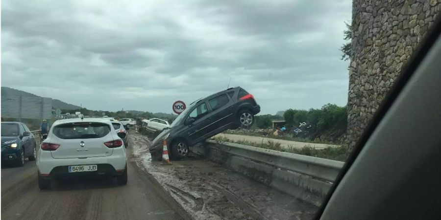
[[[24,167],[1,168],[1,219],[137,220],[182,219],[179,210],[146,173],[138,168],[128,147],[128,182],[113,178],[57,181],[40,191],[35,161]],[[178,211],[176,211],[178,210]]]

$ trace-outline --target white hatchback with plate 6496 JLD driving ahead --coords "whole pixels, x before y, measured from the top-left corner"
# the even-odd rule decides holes
[[[123,140],[106,118],[55,121],[37,155],[38,186],[77,176],[116,176],[127,183],[127,155]]]

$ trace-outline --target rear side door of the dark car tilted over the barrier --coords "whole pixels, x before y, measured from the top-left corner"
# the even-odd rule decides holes
[[[209,99],[208,104],[212,110],[213,123],[207,127],[207,138],[226,130],[234,121],[234,103],[226,93]]]

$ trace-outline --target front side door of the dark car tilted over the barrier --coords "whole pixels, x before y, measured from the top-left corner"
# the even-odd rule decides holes
[[[205,137],[205,134],[207,133],[206,128],[212,122],[207,102],[202,102],[197,105],[187,116],[185,122],[187,122],[189,118],[195,119],[192,124],[186,125],[188,126],[187,135],[190,142],[189,144],[193,145]]]

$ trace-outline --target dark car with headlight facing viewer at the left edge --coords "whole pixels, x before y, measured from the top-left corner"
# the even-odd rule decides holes
[[[1,122],[1,163],[25,165],[37,157],[37,144],[34,135],[20,122]]]

